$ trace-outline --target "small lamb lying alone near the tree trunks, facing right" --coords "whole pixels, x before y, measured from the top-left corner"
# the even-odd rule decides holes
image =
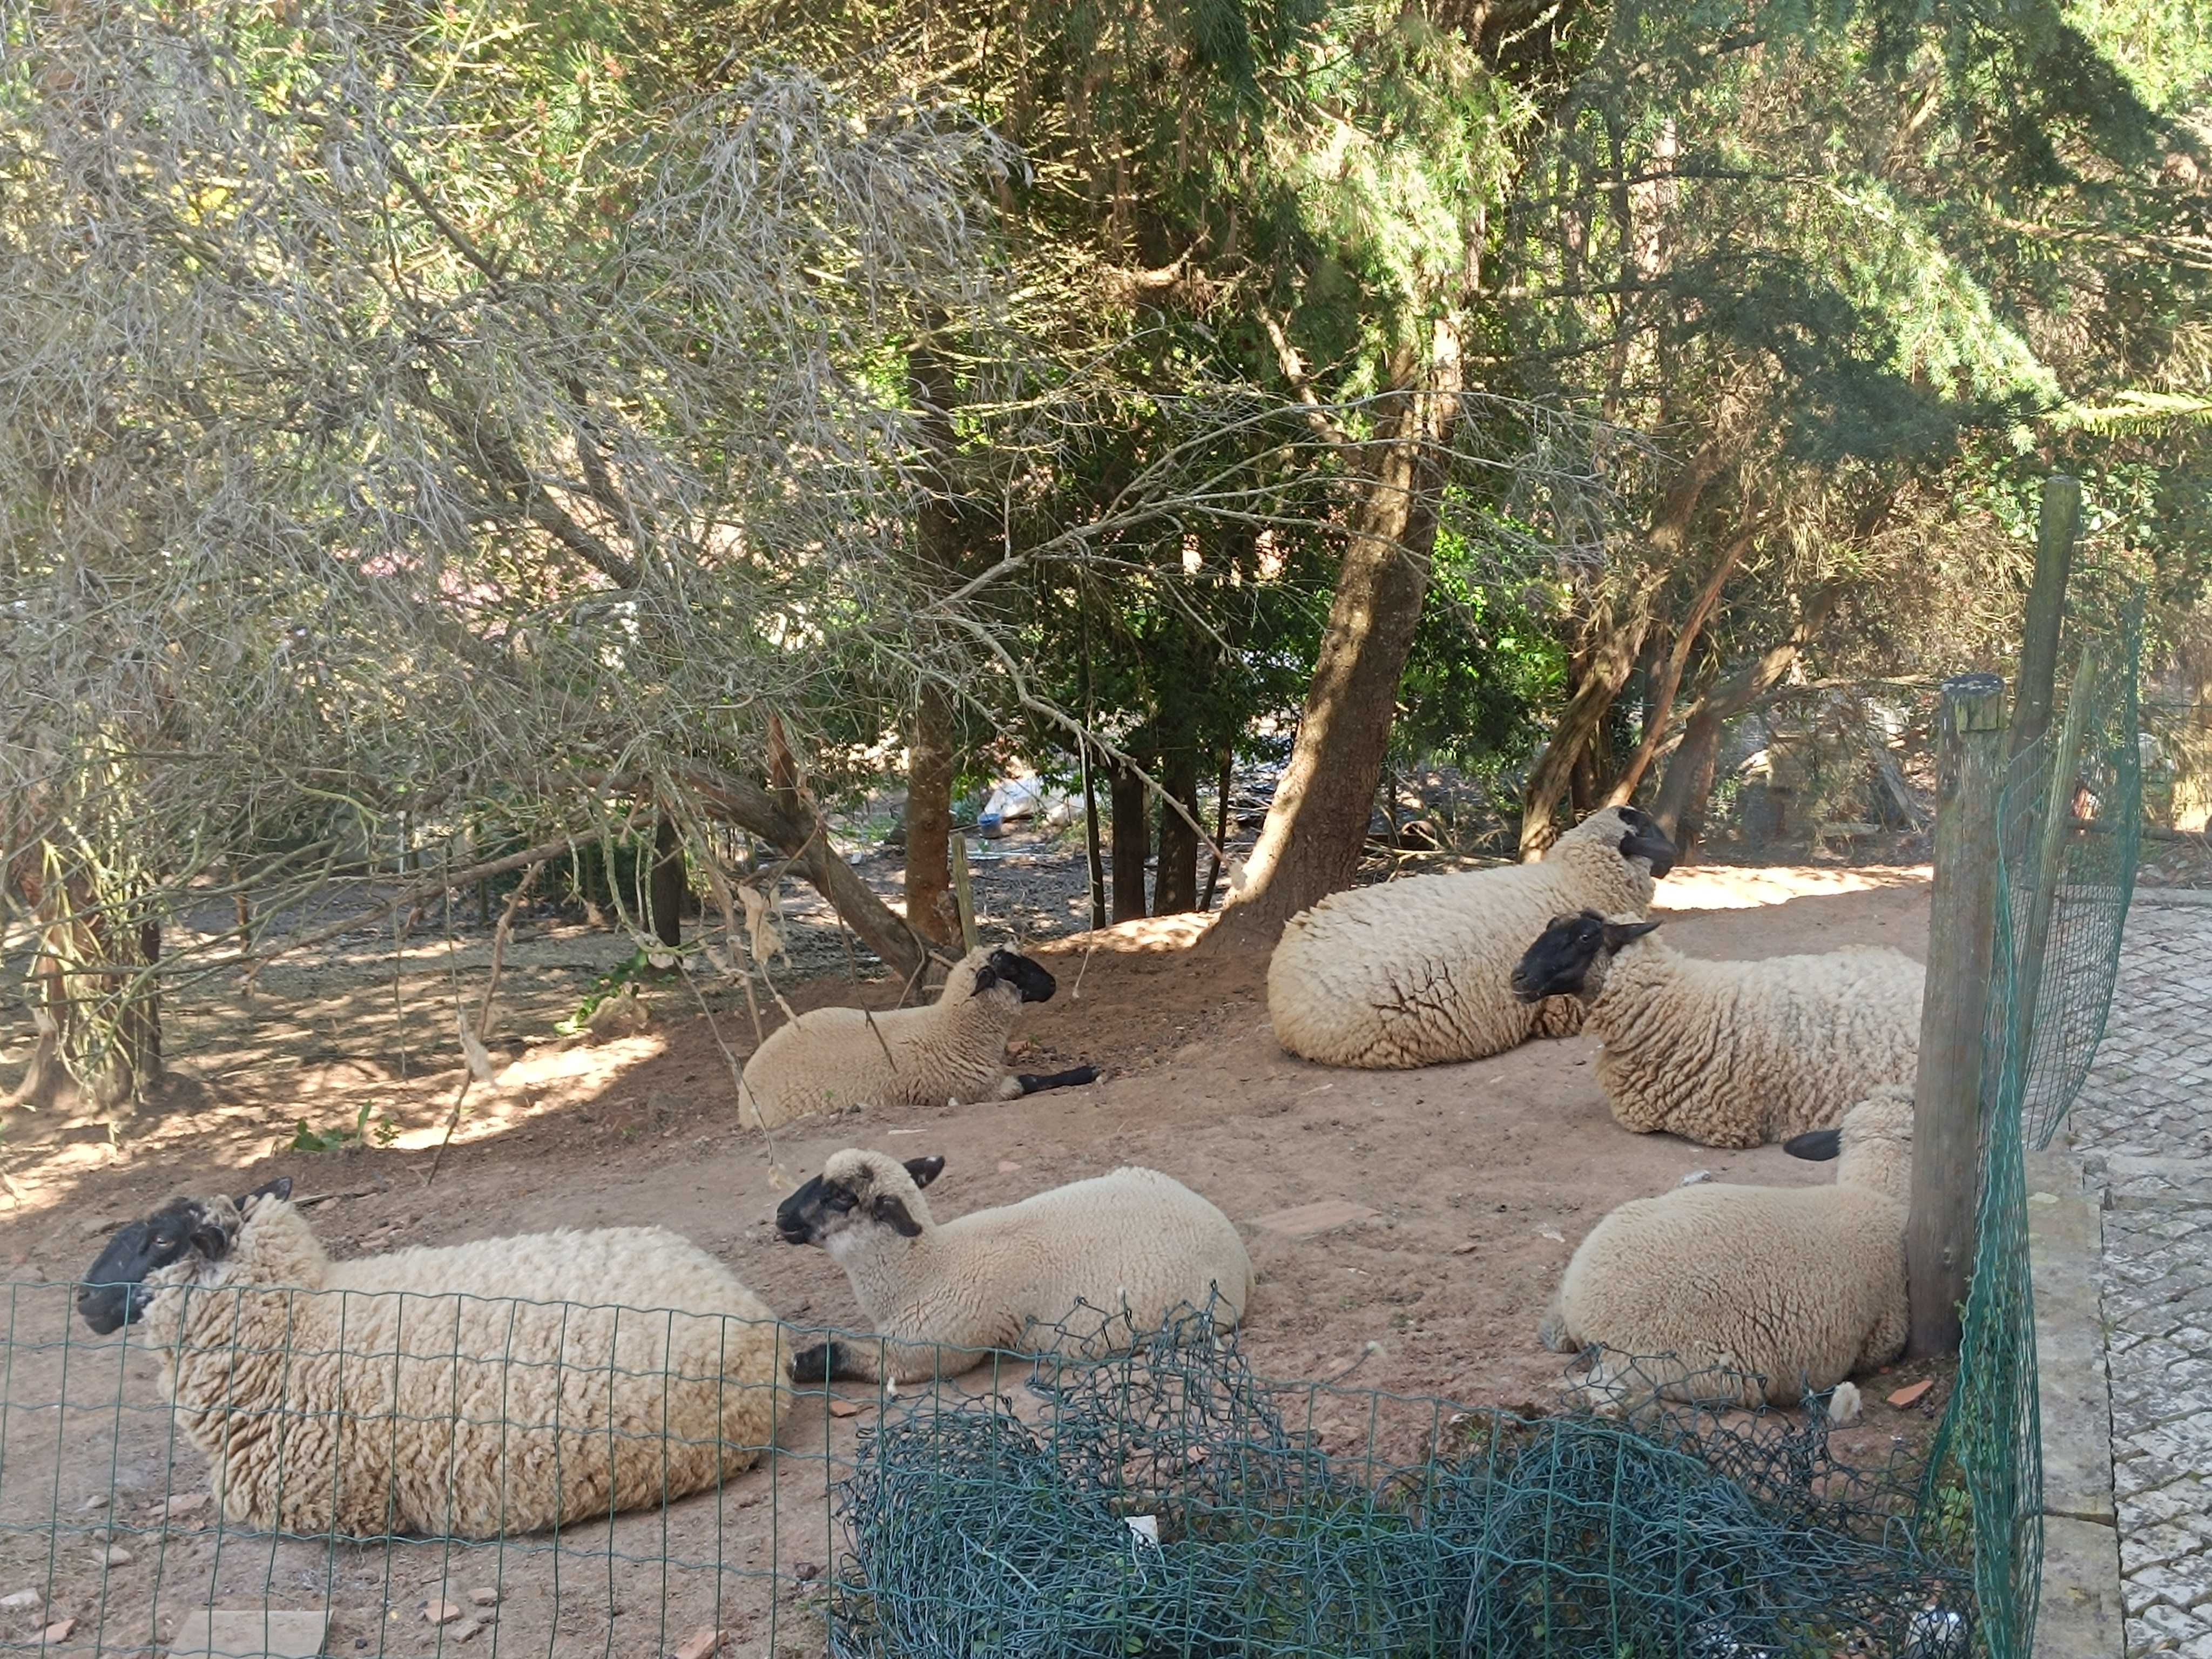
[[[1004,947],[969,951],[925,1009],[814,1009],[745,1062],[739,1121],[774,1128],[845,1106],[1015,1099],[1097,1079],[1097,1066],[1006,1073],[1006,1033],[1024,1002],[1051,1002],[1053,975]]]

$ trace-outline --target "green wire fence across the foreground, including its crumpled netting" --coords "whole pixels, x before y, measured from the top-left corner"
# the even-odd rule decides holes
[[[11,1287],[0,1648],[290,1652],[305,1615],[330,1655],[1966,1652],[1918,1469],[1832,1455],[1823,1396],[1657,1407],[1630,1376],[1624,1416],[1467,1411],[1263,1383],[1206,1314],[1117,1360],[825,1394],[697,1363],[781,1365],[796,1327],[706,1321],[701,1349],[666,1310],[195,1294],[230,1314],[199,1325],[230,1332],[199,1340],[212,1409],[170,1409],[73,1285]]]

